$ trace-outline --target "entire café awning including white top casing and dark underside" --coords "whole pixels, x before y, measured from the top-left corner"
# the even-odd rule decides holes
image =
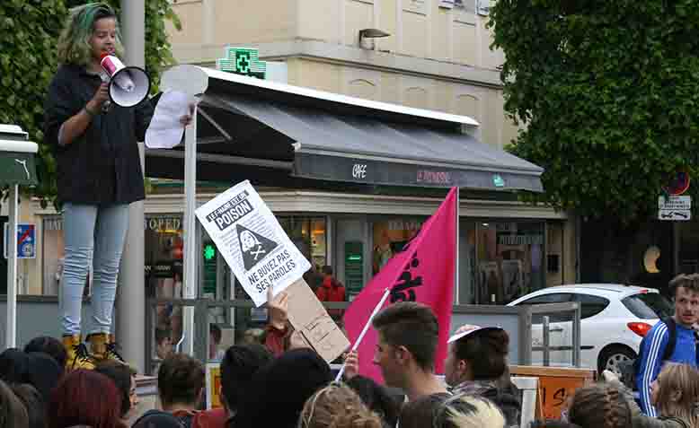
[[[543,191],[543,169],[463,134],[470,118],[204,70],[199,180]],[[146,175],[183,179],[182,159],[146,150]]]

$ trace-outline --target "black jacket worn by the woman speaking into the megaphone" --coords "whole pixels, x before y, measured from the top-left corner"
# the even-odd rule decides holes
[[[111,103],[95,116],[83,135],[58,144],[58,130],[93,98],[102,83],[81,66],[60,66],[45,105],[44,143],[58,162],[58,199],[86,205],[128,204],[145,197],[137,141],[153,117],[150,100],[122,109]]]

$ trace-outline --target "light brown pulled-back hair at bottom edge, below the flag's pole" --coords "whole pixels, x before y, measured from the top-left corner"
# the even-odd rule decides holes
[[[331,384],[305,402],[299,428],[381,428],[381,418],[344,384]]]

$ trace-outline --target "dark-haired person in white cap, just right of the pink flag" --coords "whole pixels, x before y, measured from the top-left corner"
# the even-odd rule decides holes
[[[465,328],[449,338],[444,364],[452,393],[490,399],[505,415],[506,427],[518,427],[520,393],[508,377],[508,333],[502,328]]]

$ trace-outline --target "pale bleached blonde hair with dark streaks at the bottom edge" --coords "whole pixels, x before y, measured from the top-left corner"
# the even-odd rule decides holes
[[[505,416],[483,397],[467,394],[450,397],[441,404],[433,428],[503,428]]]

